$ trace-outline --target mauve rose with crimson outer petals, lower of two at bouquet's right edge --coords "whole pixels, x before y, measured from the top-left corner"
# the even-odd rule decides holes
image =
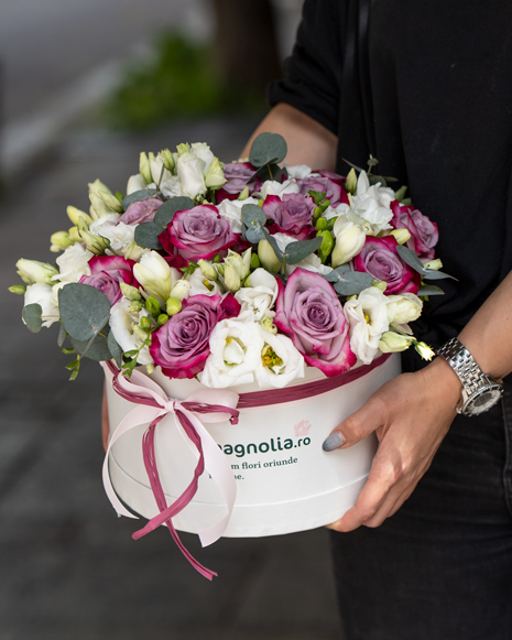
[[[388,283],[385,294],[417,293],[422,276],[400,258],[393,236],[367,236],[364,247],[353,258],[355,271],[370,273],[374,280]]]

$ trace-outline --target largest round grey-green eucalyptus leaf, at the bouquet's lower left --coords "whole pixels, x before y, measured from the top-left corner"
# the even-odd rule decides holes
[[[108,323],[110,302],[105,293],[88,284],[66,284],[58,292],[64,328],[74,340],[90,340]]]

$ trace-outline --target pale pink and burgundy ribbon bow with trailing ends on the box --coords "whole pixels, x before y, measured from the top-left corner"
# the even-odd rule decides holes
[[[133,533],[132,538],[139,540],[139,538],[165,523],[185,557],[201,575],[211,579],[217,574],[204,567],[189,554],[174,529],[172,518],[179,513],[194,498],[199,477],[206,468],[222,492],[228,513],[219,522],[199,531],[198,535],[203,546],[216,542],[226,531],[237,497],[237,484],[226,456],[205,429],[203,422],[214,423],[229,420],[231,424],[237,424],[239,415],[236,409],[238,394],[232,391],[205,389],[192,393],[183,401],[178,401],[167,398],[156,382],[138,371],[133,371],[131,379],[128,380],[120,375],[120,371],[112,362],[102,362],[102,366],[106,376],[112,382],[115,391],[124,400],[137,404],[116,429],[105,455],[102,476],[108,499],[120,516],[137,518],[137,516],[126,509],[113,490],[108,470],[108,459],[113,444],[122,435],[135,426],[150,423],[143,436],[142,453],[160,514],[152,518],[145,527]],[[177,431],[198,458],[198,462],[188,487],[171,506],[167,506],[156,468],[154,432],[159,422],[170,413],[174,415]],[[198,415],[201,416],[201,420],[199,420]]]

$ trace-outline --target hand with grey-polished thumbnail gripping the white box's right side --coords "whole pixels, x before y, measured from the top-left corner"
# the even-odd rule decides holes
[[[333,431],[331,446],[341,443],[335,434],[345,441],[336,448],[347,448],[374,431],[379,449],[356,506],[329,529],[379,527],[400,509],[448,432],[461,388],[449,365],[437,358],[421,371],[386,382]]]

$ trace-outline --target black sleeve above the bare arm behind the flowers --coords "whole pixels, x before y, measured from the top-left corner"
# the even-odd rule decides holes
[[[286,102],[338,134],[342,69],[342,0],[306,0],[285,77],[268,87],[271,106]]]

